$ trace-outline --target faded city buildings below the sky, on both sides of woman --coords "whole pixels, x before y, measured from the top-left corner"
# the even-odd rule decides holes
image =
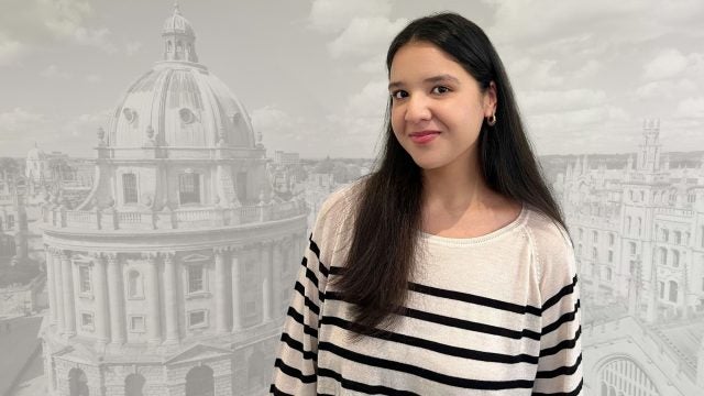
[[[267,147],[185,12],[164,18],[92,156],[0,158],[2,395],[268,394],[318,209],[374,169]],[[578,262],[584,394],[701,395],[704,147],[629,129],[622,152],[539,157]]]

